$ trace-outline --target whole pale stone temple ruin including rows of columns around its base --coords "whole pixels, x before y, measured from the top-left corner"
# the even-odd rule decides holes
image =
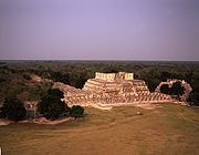
[[[150,93],[145,81],[135,80],[134,73],[95,73],[84,87],[75,89],[56,82],[55,89],[64,92],[69,105],[117,106],[136,103],[174,102],[170,95],[160,92]]]

